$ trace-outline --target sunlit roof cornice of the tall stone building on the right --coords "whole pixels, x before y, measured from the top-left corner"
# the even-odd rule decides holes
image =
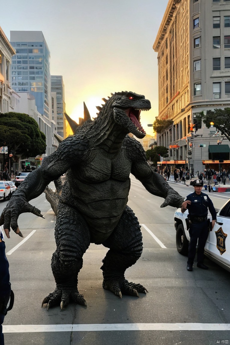
[[[161,42],[164,39],[166,34],[167,28],[172,20],[174,11],[177,8],[177,5],[180,3],[181,0],[169,0],[166,11],[164,12],[164,16],[160,25],[160,28],[157,33],[156,40],[153,44],[153,50],[158,52]]]

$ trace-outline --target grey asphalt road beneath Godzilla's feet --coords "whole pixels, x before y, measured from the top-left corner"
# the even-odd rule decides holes
[[[56,249],[55,216],[42,194],[31,204],[46,219],[22,214],[19,227],[25,238],[12,231],[11,238],[6,238],[15,302],[3,324],[5,345],[230,344],[229,273],[209,259],[205,262],[209,270],[195,266],[188,272],[187,258],[176,249],[175,208],[160,208],[162,198],[149,194],[133,177],[131,181],[128,205],[142,225],[144,249],[138,262],[127,269],[126,278],[141,283],[149,293],[120,299],[104,290],[100,267],[107,249],[91,244],[78,284],[87,307],[41,308],[43,298],[55,288],[50,262]],[[170,186],[182,196],[193,190],[182,184]],[[229,197],[209,195],[218,208]],[[6,204],[0,201],[0,211]]]

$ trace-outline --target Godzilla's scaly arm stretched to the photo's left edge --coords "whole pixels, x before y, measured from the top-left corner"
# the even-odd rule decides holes
[[[31,212],[42,217],[41,211],[29,204],[29,200],[39,196],[52,180],[56,180],[71,165],[80,164],[81,157],[86,149],[86,143],[81,138],[69,137],[62,141],[57,151],[43,159],[40,168],[30,172],[21,186],[13,193],[9,203],[3,209],[0,225],[9,237],[10,227],[19,233],[18,217],[21,213]]]

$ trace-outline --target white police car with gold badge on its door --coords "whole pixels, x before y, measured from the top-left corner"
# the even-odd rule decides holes
[[[188,210],[182,213],[180,208],[174,213],[177,250],[182,255],[188,255],[190,241],[187,216]],[[208,218],[211,219],[210,214]],[[209,231],[204,254],[230,272],[230,199],[218,210],[217,221]]]

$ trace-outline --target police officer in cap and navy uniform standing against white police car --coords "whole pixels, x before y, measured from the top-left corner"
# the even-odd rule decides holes
[[[197,250],[197,267],[208,269],[208,266],[203,264],[204,246],[206,244],[209,233],[208,209],[212,216],[211,230],[214,227],[217,219],[217,213],[213,206],[212,200],[207,194],[201,192],[203,181],[194,180],[194,193],[189,194],[181,206],[181,212],[184,213],[186,209],[189,212],[190,227],[189,227],[189,254],[187,261],[187,270],[192,271],[193,261],[196,255],[196,246],[198,240]]]

